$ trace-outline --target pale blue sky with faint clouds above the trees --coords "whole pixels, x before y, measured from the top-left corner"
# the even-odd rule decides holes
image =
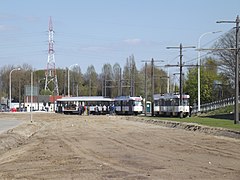
[[[50,17],[56,68],[78,64],[84,73],[94,65],[100,73],[131,55],[139,69],[152,58],[164,61],[157,66],[177,64],[179,50],[166,47],[197,47],[202,34],[221,31],[201,38],[202,48],[211,47],[234,27],[216,21],[239,14],[239,0],[0,0],[0,68],[46,69]],[[197,53],[184,49],[183,62],[196,64]]]

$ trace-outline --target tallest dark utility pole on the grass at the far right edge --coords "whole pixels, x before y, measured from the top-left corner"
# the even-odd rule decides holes
[[[235,106],[234,106],[234,124],[239,124],[239,62],[238,62],[238,53],[239,53],[239,16],[237,16],[235,21],[217,21],[217,23],[235,23],[236,24],[236,47],[235,47]]]

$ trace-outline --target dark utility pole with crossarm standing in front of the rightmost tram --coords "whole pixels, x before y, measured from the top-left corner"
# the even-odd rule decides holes
[[[183,107],[183,74],[182,74],[182,68],[183,68],[183,63],[182,63],[182,49],[183,48],[195,48],[195,46],[182,46],[182,43],[180,43],[179,47],[167,47],[167,49],[180,49],[180,64],[179,64],[179,68],[180,68],[180,82],[179,82],[179,95],[180,95],[180,101],[179,101],[179,105],[180,105],[180,118],[183,118],[183,112],[181,110],[181,108]],[[175,66],[175,65],[173,65]]]

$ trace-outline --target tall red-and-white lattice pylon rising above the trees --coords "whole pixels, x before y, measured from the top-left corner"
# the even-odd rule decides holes
[[[48,30],[48,61],[47,61],[47,69],[45,73],[45,90],[49,90],[53,92],[54,95],[59,95],[58,91],[58,81],[57,81],[57,73],[55,67],[55,58],[54,58],[54,41],[53,41],[53,24],[52,18],[49,20],[49,30]]]

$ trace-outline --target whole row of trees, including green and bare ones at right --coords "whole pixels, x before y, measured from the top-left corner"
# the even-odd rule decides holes
[[[235,29],[230,30],[215,42],[213,48],[229,48],[235,45]],[[234,92],[234,62],[235,53],[229,50],[213,51],[211,56],[202,59],[201,70],[201,103],[233,96]],[[79,63],[80,64],[80,63]],[[12,99],[23,102],[24,87],[30,85],[30,75],[33,71],[31,65],[23,64],[20,71],[12,73]],[[0,97],[9,96],[9,73],[16,68],[5,65],[0,68]],[[146,68],[146,69],[145,69]],[[97,73],[94,65],[89,65],[86,72],[82,73],[80,66],[71,69],[56,69],[59,95],[68,95],[68,71],[70,74],[71,96],[106,96],[131,95],[145,97],[145,73],[147,85],[147,100],[151,99],[151,71],[150,63],[146,67],[137,69],[134,55],[126,59],[124,67],[119,63],[109,63],[102,66],[102,71]],[[40,95],[54,95],[52,91],[44,90],[45,70],[33,71],[34,86],[39,87]],[[164,68],[154,67],[154,93],[167,92],[167,72]],[[170,92],[177,92],[179,84],[175,85],[170,78]],[[191,67],[184,76],[184,93],[191,97],[191,105],[197,103],[197,67]]]

